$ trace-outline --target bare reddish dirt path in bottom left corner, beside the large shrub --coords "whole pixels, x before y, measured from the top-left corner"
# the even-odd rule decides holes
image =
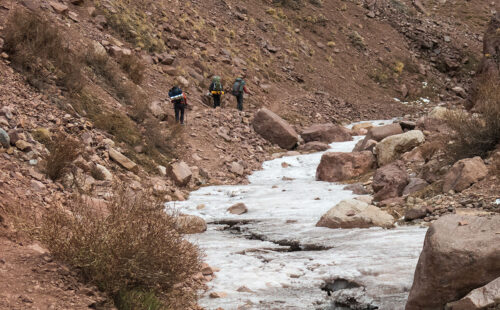
[[[96,309],[102,301],[38,244],[0,239],[1,309]]]

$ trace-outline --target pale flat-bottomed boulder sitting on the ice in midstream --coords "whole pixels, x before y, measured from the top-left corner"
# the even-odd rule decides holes
[[[317,227],[328,228],[368,228],[379,226],[389,228],[394,218],[387,212],[365,202],[343,200],[321,217]]]

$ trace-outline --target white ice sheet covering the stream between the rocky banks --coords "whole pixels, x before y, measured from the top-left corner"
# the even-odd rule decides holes
[[[359,139],[332,143],[329,151],[350,152]],[[325,281],[342,278],[362,285],[365,300],[371,299],[379,309],[404,308],[426,230],[315,227],[331,207],[355,197],[343,185],[315,180],[321,155],[268,161],[249,176],[249,185],[204,187],[185,202],[168,204],[209,223],[207,232],[190,240],[203,249],[209,265],[220,269],[208,283],[209,292],[227,296],[211,299],[207,293],[202,306],[337,309],[332,298],[343,292],[328,297],[320,288]],[[226,211],[238,202],[249,212]],[[200,204],[205,208],[197,210]],[[236,221],[240,224],[230,227]],[[251,292],[239,292],[243,286]]]

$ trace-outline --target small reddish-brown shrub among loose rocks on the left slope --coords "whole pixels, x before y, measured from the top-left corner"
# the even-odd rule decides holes
[[[52,180],[57,180],[80,155],[81,145],[77,140],[60,132],[53,136],[46,146],[49,155],[45,158],[45,173]]]

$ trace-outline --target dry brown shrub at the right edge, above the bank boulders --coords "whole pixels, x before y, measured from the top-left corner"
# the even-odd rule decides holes
[[[486,157],[500,143],[500,87],[498,78],[485,79],[477,93],[477,114],[450,112],[447,124],[453,129],[449,144],[453,159]]]

